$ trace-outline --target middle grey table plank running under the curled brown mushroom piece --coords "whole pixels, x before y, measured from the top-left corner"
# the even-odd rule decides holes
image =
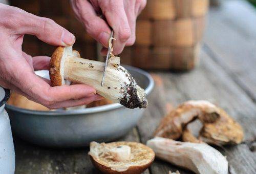
[[[250,144],[256,138],[256,107],[247,94],[232,80],[225,71],[204,52],[201,54],[200,66],[189,73],[157,73],[163,85],[155,89],[163,93],[167,102],[177,105],[189,99],[206,99],[224,108],[243,127],[244,142],[237,146],[218,148],[227,156],[232,173],[254,173],[256,156],[250,151]],[[159,88],[158,86],[156,88]],[[151,138],[159,120],[164,116],[164,105],[157,94],[150,98],[151,107],[138,123],[143,143]],[[152,173],[167,173],[177,168],[157,161],[151,167]],[[186,173],[186,171],[181,173]]]

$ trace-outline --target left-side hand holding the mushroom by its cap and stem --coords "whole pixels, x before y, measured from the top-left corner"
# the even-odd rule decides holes
[[[71,107],[101,99],[84,84],[50,86],[34,70],[47,69],[50,57],[31,57],[22,51],[25,34],[55,46],[70,46],[75,36],[53,20],[0,3],[0,85],[48,108]]]

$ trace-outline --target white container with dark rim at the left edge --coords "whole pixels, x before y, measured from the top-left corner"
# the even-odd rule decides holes
[[[15,171],[15,153],[10,120],[5,111],[9,90],[0,86],[0,173],[12,174]]]

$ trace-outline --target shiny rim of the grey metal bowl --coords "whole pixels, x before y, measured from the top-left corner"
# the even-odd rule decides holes
[[[123,67],[125,67],[128,71],[132,70],[132,71],[138,72],[139,74],[144,75],[149,81],[148,86],[145,88],[145,93],[146,93],[146,95],[151,93],[151,91],[154,88],[155,83],[154,83],[152,76],[148,72],[146,72],[142,69],[136,68],[136,67],[132,67],[132,66],[124,65]],[[80,109],[72,110],[72,111],[71,110],[68,110],[68,111],[66,111],[66,110],[56,110],[56,111],[27,110],[25,108],[16,107],[13,105],[9,105],[7,103],[6,103],[5,107],[8,110],[13,110],[13,111],[21,112],[21,113],[25,113],[25,114],[56,116],[56,115],[82,115],[82,114],[99,113],[99,112],[115,110],[116,108],[121,108],[124,106],[119,103],[112,103],[112,104],[106,104],[103,106],[80,108]]]

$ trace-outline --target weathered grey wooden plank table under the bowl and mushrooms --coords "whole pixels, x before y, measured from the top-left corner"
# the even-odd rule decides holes
[[[156,86],[143,118],[121,140],[145,143],[172,107],[189,99],[206,99],[224,108],[244,128],[244,141],[218,148],[230,173],[256,173],[256,11],[244,1],[225,1],[211,9],[202,44],[201,63],[188,73],[152,72]],[[14,138],[16,173],[99,173],[88,148],[49,149]],[[144,173],[179,170],[155,160]]]

